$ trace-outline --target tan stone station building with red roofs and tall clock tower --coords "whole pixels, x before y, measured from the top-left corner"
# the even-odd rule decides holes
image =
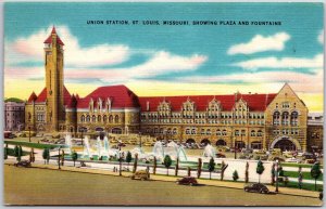
[[[111,86],[79,97],[64,87],[64,44],[54,28],[45,43],[46,88],[32,93],[25,107],[26,127],[36,131],[141,132],[239,148],[308,148],[308,108],[288,83],[277,93],[198,96],[137,96]]]

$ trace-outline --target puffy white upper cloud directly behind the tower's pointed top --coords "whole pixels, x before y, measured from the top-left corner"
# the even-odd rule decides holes
[[[7,62],[12,63],[20,56],[22,61],[42,61],[43,41],[49,37],[51,27],[40,29],[36,34],[26,38],[18,38],[14,42],[8,43]],[[128,60],[130,50],[123,44],[98,44],[82,48],[78,39],[73,36],[66,26],[55,26],[57,34],[64,42],[65,65],[75,67],[92,67],[99,65],[115,65]]]

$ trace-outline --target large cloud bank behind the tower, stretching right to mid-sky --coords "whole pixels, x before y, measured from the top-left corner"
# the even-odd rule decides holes
[[[26,37],[5,44],[5,74],[20,75],[20,78],[43,76],[42,67],[20,67],[24,62],[43,63],[43,41],[52,27],[40,29]],[[101,79],[102,81],[123,82],[128,79],[148,78],[170,73],[196,70],[208,57],[201,54],[178,55],[168,51],[151,49],[129,49],[124,44],[98,44],[80,47],[77,37],[73,36],[66,26],[55,26],[59,37],[64,42],[65,78],[68,79]],[[148,56],[142,64],[125,67],[111,67],[124,64],[133,55]],[[103,66],[108,66],[103,68]]]

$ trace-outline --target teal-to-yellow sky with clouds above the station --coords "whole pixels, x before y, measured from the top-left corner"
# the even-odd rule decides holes
[[[140,96],[277,93],[288,82],[310,112],[322,113],[323,19],[322,3],[8,2],[4,96],[27,100],[45,87],[43,41],[54,25],[65,44],[64,83],[80,96],[112,84]]]

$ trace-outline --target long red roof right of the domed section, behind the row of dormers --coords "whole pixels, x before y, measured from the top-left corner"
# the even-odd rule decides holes
[[[249,105],[250,110],[263,112],[273,101],[276,94],[238,94],[237,101],[242,99]],[[215,97],[221,102],[223,110],[231,110],[235,104],[236,96],[230,95],[190,95],[190,96],[141,96],[139,103],[141,112],[147,110],[147,102],[149,102],[149,110],[156,112],[158,106],[164,100],[171,104],[172,110],[180,110],[183,103],[188,99],[196,104],[196,109],[200,112],[206,110],[209,103]]]

